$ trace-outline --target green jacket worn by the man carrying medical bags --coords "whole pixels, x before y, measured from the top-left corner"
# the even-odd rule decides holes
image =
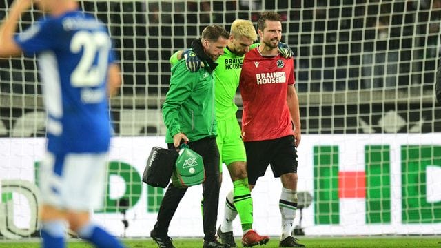
[[[185,60],[172,67],[170,89],[163,104],[163,119],[167,127],[166,143],[182,132],[189,141],[216,137],[214,79],[208,63],[198,70],[187,70]]]

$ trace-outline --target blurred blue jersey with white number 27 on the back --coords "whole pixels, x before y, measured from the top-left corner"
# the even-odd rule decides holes
[[[107,70],[114,56],[105,25],[75,11],[45,17],[14,38],[25,54],[38,57],[48,151],[108,151]]]

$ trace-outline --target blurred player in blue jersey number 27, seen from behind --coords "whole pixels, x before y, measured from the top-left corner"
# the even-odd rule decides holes
[[[48,112],[41,162],[42,247],[65,247],[67,222],[96,247],[123,247],[90,220],[102,207],[110,144],[107,97],[121,85],[107,28],[73,0],[34,1],[46,16],[15,34],[31,0],[17,0],[0,26],[0,57],[36,54]]]

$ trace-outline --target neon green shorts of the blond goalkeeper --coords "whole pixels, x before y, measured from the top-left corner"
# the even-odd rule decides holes
[[[218,144],[220,154],[220,168],[222,172],[222,163],[229,165],[232,162],[247,161],[247,153],[240,136],[240,127],[236,116],[218,123],[218,136],[216,143]]]

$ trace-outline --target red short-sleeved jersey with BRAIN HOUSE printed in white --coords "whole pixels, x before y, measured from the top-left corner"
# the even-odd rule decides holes
[[[240,72],[243,141],[263,141],[293,134],[287,87],[294,87],[294,59],[245,54]],[[291,85],[291,86],[288,86]]]

